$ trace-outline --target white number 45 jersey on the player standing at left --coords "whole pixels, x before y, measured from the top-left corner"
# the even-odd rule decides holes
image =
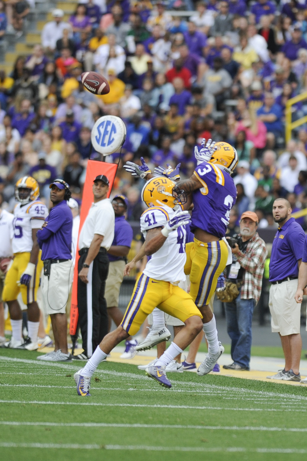
[[[41,229],[48,208],[39,201],[31,201],[26,205],[18,203],[14,209],[14,236],[12,240],[13,253],[30,252],[33,247],[32,229]]]

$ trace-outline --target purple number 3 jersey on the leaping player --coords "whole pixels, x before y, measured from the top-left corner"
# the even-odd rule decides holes
[[[191,231],[198,227],[221,239],[225,237],[230,210],[236,202],[236,186],[230,174],[213,163],[201,163],[194,175],[203,187],[192,193]]]

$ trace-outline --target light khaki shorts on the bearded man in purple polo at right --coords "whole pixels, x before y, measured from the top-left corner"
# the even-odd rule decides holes
[[[281,336],[295,335],[301,331],[301,304],[297,304],[294,296],[297,280],[289,280],[270,288],[269,307],[272,315],[272,332]]]

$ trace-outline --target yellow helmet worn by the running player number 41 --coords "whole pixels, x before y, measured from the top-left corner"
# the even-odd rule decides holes
[[[178,184],[165,176],[153,177],[142,189],[142,200],[147,207],[161,207],[166,205],[174,208],[176,205],[184,205],[187,196]]]

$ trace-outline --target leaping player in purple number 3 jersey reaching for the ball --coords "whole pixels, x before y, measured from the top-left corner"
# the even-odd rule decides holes
[[[200,151],[195,147],[197,166],[193,175],[178,183],[178,187],[188,194],[185,208],[189,208],[192,203],[194,205],[191,215],[194,242],[185,246],[185,274],[190,274],[190,294],[203,315],[203,331],[208,341],[208,355],[197,370],[200,376],[212,371],[224,352],[218,340],[215,317],[209,308],[209,301],[228,257],[231,258],[225,234],[230,210],[237,197],[231,173],[238,162],[237,151],[230,144],[215,143],[211,139],[207,143],[203,140],[202,144]],[[124,168],[133,176],[145,179],[153,177],[144,159],[141,166],[127,162]],[[161,174],[162,167],[155,171]],[[176,179],[178,171],[168,168],[163,175]]]

